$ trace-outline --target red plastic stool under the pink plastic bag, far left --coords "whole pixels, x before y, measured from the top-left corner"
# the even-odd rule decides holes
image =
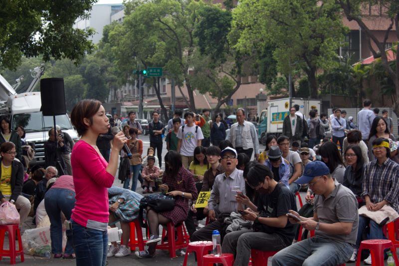
[[[8,232],[8,242],[9,250],[4,250],[4,236],[5,232]],[[18,250],[15,249],[15,236],[18,237]],[[22,250],[22,240],[21,232],[19,230],[19,225],[3,225],[0,226],[0,260],[1,257],[9,257],[10,264],[15,264],[16,256],[21,256],[21,262],[23,263],[23,250]]]

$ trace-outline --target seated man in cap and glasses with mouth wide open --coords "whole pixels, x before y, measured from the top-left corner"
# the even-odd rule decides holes
[[[193,241],[211,241],[213,230],[218,230],[223,240],[225,235],[223,229],[227,227],[224,218],[230,217],[232,212],[237,212],[238,203],[235,200],[237,192],[245,193],[243,172],[236,169],[237,152],[233,148],[227,147],[221,151],[220,157],[224,173],[216,176],[210,192],[208,217],[211,223],[196,231],[192,237]],[[215,210],[219,215],[216,216]]]

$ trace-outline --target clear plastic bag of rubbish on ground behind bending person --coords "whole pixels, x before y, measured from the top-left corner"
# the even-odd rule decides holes
[[[25,230],[22,234],[23,253],[31,256],[50,258],[51,239],[50,227]]]

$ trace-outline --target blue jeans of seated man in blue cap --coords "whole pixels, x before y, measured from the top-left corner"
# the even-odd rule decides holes
[[[272,265],[337,266],[346,263],[352,253],[349,243],[314,237],[279,251],[273,256]]]

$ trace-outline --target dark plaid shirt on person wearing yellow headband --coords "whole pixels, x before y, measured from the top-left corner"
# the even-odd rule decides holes
[[[372,203],[386,200],[399,212],[399,165],[390,158],[382,165],[377,162],[365,166],[362,197],[368,195]]]

